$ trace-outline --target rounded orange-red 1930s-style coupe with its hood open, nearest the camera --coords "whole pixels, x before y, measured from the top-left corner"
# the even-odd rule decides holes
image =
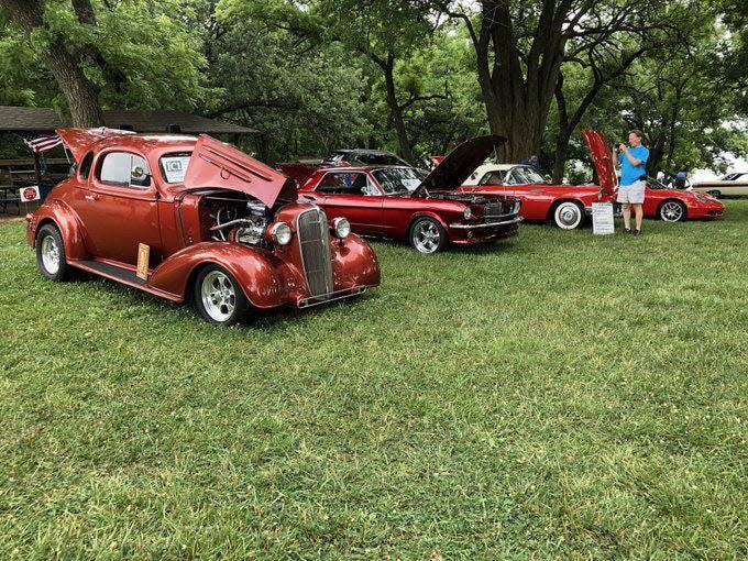
[[[229,326],[252,308],[299,308],[380,284],[343,219],[297,204],[293,179],[207,135],[57,131],[78,163],[29,215],[42,275],[74,268]]]

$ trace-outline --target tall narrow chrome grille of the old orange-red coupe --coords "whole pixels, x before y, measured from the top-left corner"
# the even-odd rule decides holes
[[[296,231],[309,292],[312,296],[332,293],[330,227],[324,211],[315,207],[301,212],[296,221]]]

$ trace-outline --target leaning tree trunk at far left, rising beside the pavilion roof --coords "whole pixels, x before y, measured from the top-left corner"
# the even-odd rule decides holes
[[[45,28],[44,9],[40,0],[0,0],[13,19],[31,34],[36,28]],[[72,53],[62,38],[54,38],[41,51],[40,56],[57,80],[70,110],[74,127],[100,127],[103,124],[99,107],[99,90],[80,66],[81,57]]]

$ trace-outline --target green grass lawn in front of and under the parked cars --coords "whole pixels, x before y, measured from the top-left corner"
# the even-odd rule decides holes
[[[620,224],[618,224],[620,226]],[[0,226],[0,559],[748,556],[748,201],[215,329]]]

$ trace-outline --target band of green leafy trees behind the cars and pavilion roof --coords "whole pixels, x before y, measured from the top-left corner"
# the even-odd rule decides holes
[[[556,179],[580,130],[641,128],[650,172],[748,151],[738,0],[0,0],[0,103],[179,109],[257,129],[270,162],[377,147],[420,164],[508,139]]]

